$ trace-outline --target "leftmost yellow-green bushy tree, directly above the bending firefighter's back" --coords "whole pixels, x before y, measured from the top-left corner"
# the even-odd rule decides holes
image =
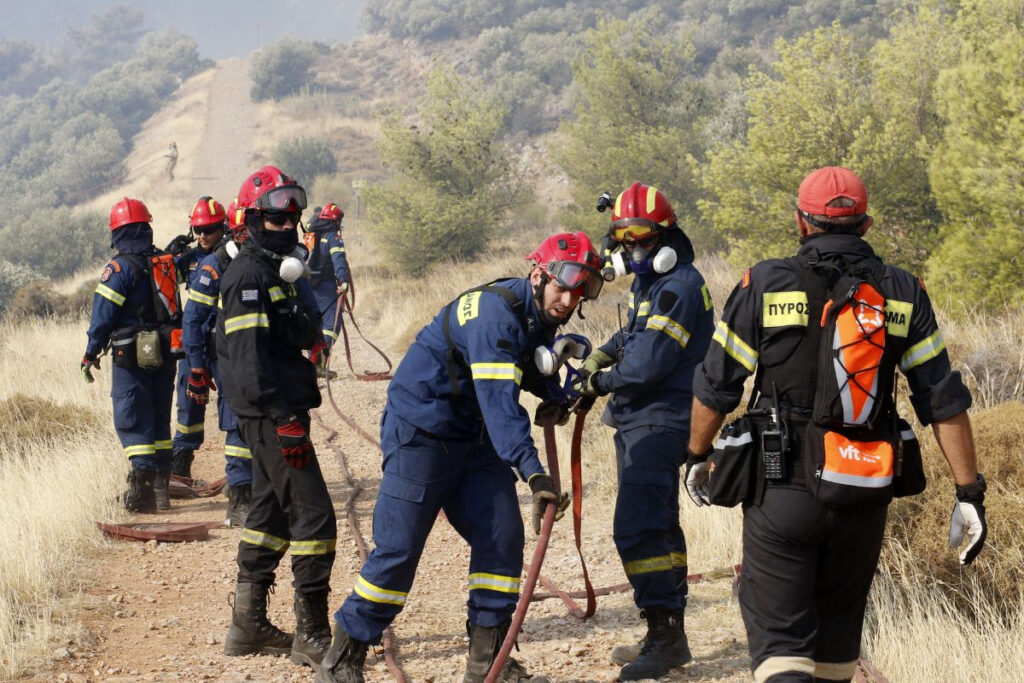
[[[403,269],[473,257],[525,194],[499,142],[505,112],[480,84],[437,67],[419,102],[419,122],[397,113],[382,122],[378,150],[391,179],[365,197],[381,248]]]

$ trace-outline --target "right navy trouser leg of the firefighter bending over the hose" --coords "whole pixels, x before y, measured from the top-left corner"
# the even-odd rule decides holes
[[[490,439],[473,443],[444,514],[470,545],[469,621],[493,628],[512,616],[522,575],[523,526],[515,475]]]

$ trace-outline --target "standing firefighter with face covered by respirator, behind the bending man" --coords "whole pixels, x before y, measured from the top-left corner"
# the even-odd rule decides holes
[[[622,681],[659,678],[690,660],[683,628],[686,539],[679,471],[690,426],[693,371],[711,343],[715,312],[693,247],[665,195],[633,183],[615,199],[609,246],[632,271],[629,317],[584,361],[583,393],[611,394],[618,493],[613,537],[634,602],[647,621],[639,645],[612,650]]]

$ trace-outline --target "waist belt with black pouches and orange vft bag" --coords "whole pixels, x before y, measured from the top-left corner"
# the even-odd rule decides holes
[[[722,429],[710,458],[713,505],[757,505],[769,486],[805,487],[835,508],[886,505],[925,489],[921,445],[902,418],[833,429],[802,412],[779,415],[749,411]]]

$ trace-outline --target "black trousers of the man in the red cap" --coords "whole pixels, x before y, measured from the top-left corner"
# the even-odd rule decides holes
[[[743,507],[739,608],[755,681],[852,678],[886,512],[779,485]]]

